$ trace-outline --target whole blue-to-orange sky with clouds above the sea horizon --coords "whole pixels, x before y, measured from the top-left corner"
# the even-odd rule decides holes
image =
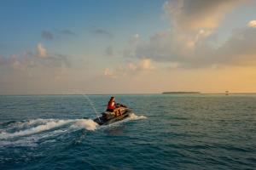
[[[255,0],[0,0],[0,94],[256,92]]]

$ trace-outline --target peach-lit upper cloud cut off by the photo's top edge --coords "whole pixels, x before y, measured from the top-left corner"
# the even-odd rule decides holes
[[[218,27],[224,15],[247,0],[173,0],[164,4],[177,29],[195,31]]]

